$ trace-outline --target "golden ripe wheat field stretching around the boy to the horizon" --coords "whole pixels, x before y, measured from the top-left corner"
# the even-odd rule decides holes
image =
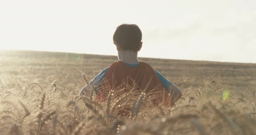
[[[0,135],[255,135],[256,64],[140,58],[183,93],[151,106],[144,93],[79,97],[116,56],[0,51]],[[83,77],[84,75],[84,77]],[[118,111],[131,108],[127,117]]]

